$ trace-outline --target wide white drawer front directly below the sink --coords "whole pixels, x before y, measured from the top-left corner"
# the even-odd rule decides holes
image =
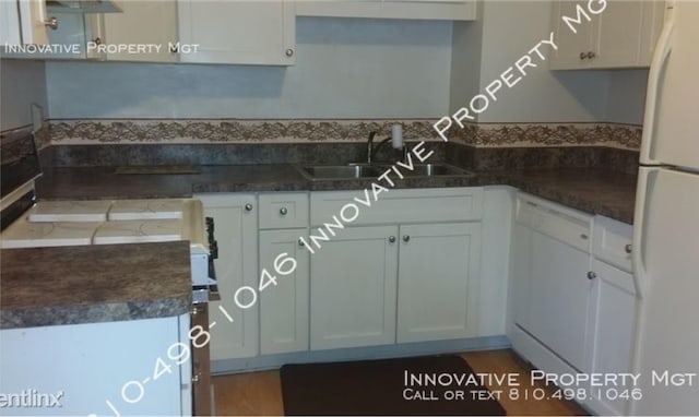
[[[467,222],[483,217],[482,188],[319,191],[310,195],[311,226],[333,222],[376,225],[426,222]],[[348,219],[348,221],[347,221]]]

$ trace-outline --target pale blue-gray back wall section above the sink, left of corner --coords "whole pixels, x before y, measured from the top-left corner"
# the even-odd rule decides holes
[[[438,118],[451,22],[297,19],[288,68],[47,63],[51,118]]]

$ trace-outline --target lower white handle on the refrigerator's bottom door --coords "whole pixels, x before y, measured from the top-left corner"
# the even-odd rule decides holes
[[[649,178],[652,172],[660,168],[640,167],[638,175],[638,186],[636,188],[636,207],[633,213],[633,236],[631,239],[631,270],[633,271],[633,286],[636,297],[642,299],[644,296],[644,285],[648,283],[648,273],[643,253],[645,251],[645,210],[650,198],[648,189]]]

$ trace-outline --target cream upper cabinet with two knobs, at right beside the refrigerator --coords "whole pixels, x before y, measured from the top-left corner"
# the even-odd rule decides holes
[[[550,69],[650,65],[663,24],[664,2],[556,1],[552,29],[558,50]]]

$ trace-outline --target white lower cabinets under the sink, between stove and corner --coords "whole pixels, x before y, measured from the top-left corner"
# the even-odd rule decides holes
[[[487,222],[486,195],[506,207]],[[320,240],[310,236],[363,191],[197,198],[214,217],[218,241],[222,301],[210,309],[217,372],[253,367],[259,356],[502,336],[507,271],[489,272],[481,287],[481,261],[507,265],[507,242],[498,239],[509,239],[509,222],[495,221],[509,219],[509,189],[392,190]],[[283,273],[289,264],[275,265],[280,255],[296,261],[292,273]],[[248,286],[256,302],[249,290],[236,298]]]

